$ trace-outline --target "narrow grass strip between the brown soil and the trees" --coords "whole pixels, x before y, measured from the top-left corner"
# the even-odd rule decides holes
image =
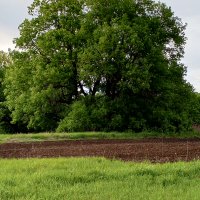
[[[33,133],[33,134],[0,134],[0,143],[31,142],[46,140],[77,139],[142,139],[142,138],[200,138],[200,132],[158,133],[158,132],[77,132],[77,133]]]

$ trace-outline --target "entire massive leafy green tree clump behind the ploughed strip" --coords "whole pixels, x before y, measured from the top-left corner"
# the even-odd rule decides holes
[[[151,0],[35,0],[5,94],[36,130],[180,131],[192,121],[185,24]]]

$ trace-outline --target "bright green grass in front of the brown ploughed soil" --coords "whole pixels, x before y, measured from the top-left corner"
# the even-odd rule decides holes
[[[200,161],[124,163],[104,158],[0,160],[0,199],[195,200]]]

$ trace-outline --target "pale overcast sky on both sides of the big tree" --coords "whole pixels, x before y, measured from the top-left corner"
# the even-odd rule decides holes
[[[33,0],[0,0],[0,50],[13,49],[13,38],[19,36],[18,26],[28,17],[27,6]],[[175,15],[187,23],[185,57],[186,79],[200,92],[200,1],[198,0],[161,0],[171,6]]]

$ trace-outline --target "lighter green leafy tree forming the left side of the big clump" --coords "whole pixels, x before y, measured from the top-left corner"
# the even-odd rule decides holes
[[[53,130],[62,112],[78,96],[77,53],[83,4],[34,1],[31,20],[19,30],[14,63],[5,81],[13,121],[30,128]]]

